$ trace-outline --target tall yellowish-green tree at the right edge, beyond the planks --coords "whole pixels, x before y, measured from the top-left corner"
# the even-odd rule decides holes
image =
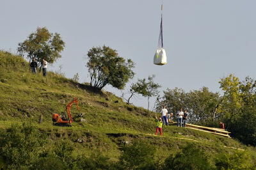
[[[224,91],[221,109],[226,128],[244,144],[256,145],[256,81],[230,74],[221,79]]]

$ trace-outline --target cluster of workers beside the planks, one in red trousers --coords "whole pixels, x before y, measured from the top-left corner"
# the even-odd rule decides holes
[[[173,123],[173,113],[168,113],[166,106],[163,107],[161,111],[162,116],[157,118],[156,116],[156,135],[160,132],[160,135],[163,135],[163,124],[168,126],[169,123]],[[188,117],[188,112],[186,109],[183,112],[183,109],[180,109],[176,114],[177,116],[177,126],[178,127],[186,127],[186,121]]]

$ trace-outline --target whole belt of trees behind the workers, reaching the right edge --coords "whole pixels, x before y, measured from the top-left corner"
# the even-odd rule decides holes
[[[166,89],[157,102],[157,109],[166,105],[169,112],[180,108],[189,112],[190,123],[218,127],[221,122],[245,144],[256,146],[256,81],[246,77],[240,81],[235,75],[220,80],[222,93],[213,93],[208,88],[186,93],[183,89]]]

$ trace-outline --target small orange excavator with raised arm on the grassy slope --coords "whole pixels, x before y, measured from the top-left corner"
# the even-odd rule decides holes
[[[56,125],[56,126],[63,126],[63,127],[71,127],[71,123],[73,122],[72,116],[71,116],[71,112],[70,109],[72,107],[73,104],[76,104],[77,109],[79,109],[78,106],[78,99],[74,98],[69,104],[67,104],[66,106],[66,112],[68,115],[68,118],[66,118],[65,113],[60,115],[58,113],[54,113],[52,114],[52,125]]]

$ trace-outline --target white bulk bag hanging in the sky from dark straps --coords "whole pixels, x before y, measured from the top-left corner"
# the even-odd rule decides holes
[[[161,11],[163,11],[163,4],[161,6]],[[161,24],[160,24],[160,33],[158,40],[158,49],[156,50],[156,54],[154,56],[154,64],[155,65],[166,65],[166,52],[163,48],[163,14],[161,14]]]

